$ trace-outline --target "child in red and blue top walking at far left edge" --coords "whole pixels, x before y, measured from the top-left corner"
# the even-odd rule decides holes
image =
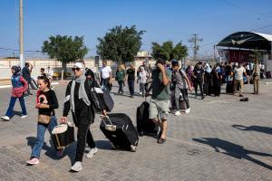
[[[21,71],[20,67],[13,66],[11,68],[11,71],[13,73],[11,77],[13,90],[11,92],[11,98],[10,98],[8,109],[6,110],[5,116],[1,117],[1,119],[4,119],[4,120],[11,119],[17,98],[19,99],[20,105],[22,108],[21,118],[24,119],[27,117],[25,104],[24,104],[24,93],[26,93],[28,89],[28,82],[25,81],[23,76],[20,75],[20,71]]]

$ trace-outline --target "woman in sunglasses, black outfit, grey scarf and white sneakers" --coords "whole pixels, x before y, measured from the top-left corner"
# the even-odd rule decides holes
[[[76,62],[73,65],[74,80],[70,81],[67,85],[63,107],[63,117],[60,119],[61,123],[67,122],[67,116],[69,110],[71,110],[73,122],[78,128],[76,155],[74,158],[73,167],[71,167],[71,170],[74,172],[79,172],[83,169],[82,163],[86,142],[91,148],[86,157],[92,157],[98,151],[98,149],[95,147],[90,131],[90,125],[94,120],[94,110],[92,108],[92,100],[90,97],[90,82],[86,80],[84,71],[85,67],[83,62]],[[92,72],[90,73],[90,76],[92,78]],[[92,78],[92,81],[95,80]],[[102,114],[105,115],[105,112],[103,111]]]

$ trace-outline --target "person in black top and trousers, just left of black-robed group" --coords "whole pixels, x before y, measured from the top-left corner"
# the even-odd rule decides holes
[[[198,97],[198,86],[201,93],[201,100],[204,99],[203,95],[203,81],[204,81],[204,70],[202,69],[201,62],[198,62],[192,73],[194,78],[194,87],[196,92],[196,98]]]

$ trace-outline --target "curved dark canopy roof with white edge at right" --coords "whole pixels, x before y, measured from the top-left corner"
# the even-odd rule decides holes
[[[271,51],[272,35],[265,33],[237,32],[228,35],[217,46]]]

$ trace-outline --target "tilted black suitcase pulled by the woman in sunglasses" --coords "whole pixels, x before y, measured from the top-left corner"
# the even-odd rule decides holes
[[[112,148],[136,151],[139,137],[130,117],[122,113],[108,114],[102,117],[100,129],[112,143]]]

